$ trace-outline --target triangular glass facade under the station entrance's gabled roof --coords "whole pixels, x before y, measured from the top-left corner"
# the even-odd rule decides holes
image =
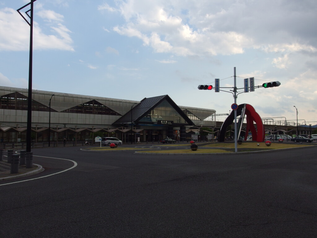
[[[174,123],[186,123],[185,119],[166,100],[152,109],[139,122],[174,121]]]

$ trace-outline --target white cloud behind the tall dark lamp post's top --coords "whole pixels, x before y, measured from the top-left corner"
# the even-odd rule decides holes
[[[34,50],[69,50],[74,51],[72,46],[73,40],[69,33],[70,30],[66,26],[58,23],[62,19],[62,15],[53,14],[45,19],[57,22],[51,26],[52,32],[55,34],[47,35],[42,32],[37,22],[33,24],[33,49]],[[29,50],[29,26],[24,19],[17,14],[16,10],[11,8],[0,9],[0,51],[11,50],[21,51]]]

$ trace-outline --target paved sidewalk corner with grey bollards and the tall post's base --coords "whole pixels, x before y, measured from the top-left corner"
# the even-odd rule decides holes
[[[29,169],[26,168],[26,165],[19,165],[19,173],[11,174],[11,164],[3,160],[0,161],[0,181],[36,174],[43,170],[44,168],[38,164],[33,164],[33,167]]]

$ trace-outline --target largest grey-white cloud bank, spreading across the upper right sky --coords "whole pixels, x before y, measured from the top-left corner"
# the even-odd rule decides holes
[[[315,39],[311,37],[316,46],[303,41],[299,31],[306,28],[297,27],[296,23],[297,18],[315,22],[314,5],[301,4],[298,8],[298,3],[286,0],[268,0],[265,4],[236,0],[217,4],[179,0],[117,3],[116,9],[107,4],[100,6],[100,9],[120,12],[126,20],[126,24],[113,30],[120,35],[138,37],[157,53],[233,55],[253,48],[266,52],[316,52]],[[306,34],[309,32],[307,29]]]

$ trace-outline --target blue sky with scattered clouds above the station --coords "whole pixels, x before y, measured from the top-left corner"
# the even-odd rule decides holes
[[[30,27],[16,10],[29,2],[0,0],[0,86],[28,88]],[[315,125],[316,12],[316,0],[37,0],[32,89],[135,101],[167,94],[225,114],[236,67],[238,105],[275,122],[296,122],[297,108],[299,123]],[[244,93],[249,77],[281,85]],[[228,92],[198,90],[215,78]]]

